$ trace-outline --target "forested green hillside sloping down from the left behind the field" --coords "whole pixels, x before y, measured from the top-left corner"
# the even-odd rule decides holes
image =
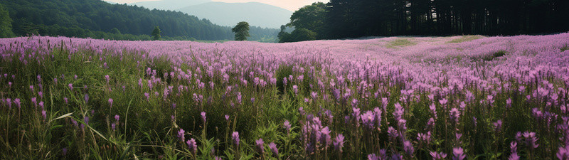
[[[218,26],[177,11],[149,10],[100,0],[1,0],[16,36],[74,36],[147,40],[156,26],[164,39],[233,39],[230,26]],[[119,34],[117,34],[119,31]],[[252,40],[275,38],[278,29],[251,27]]]

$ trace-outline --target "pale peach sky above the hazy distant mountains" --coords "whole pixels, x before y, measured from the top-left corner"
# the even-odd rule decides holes
[[[130,4],[139,1],[156,1],[156,0],[105,0],[105,1],[117,2],[119,4],[124,4],[124,3]],[[306,6],[317,1],[328,3],[329,0],[212,0],[212,1],[223,1],[228,3],[243,3],[243,2],[256,1],[263,4],[279,6],[283,9],[288,9],[290,11],[296,11],[302,6]]]

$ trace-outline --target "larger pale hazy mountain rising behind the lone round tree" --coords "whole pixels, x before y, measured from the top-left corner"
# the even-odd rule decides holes
[[[292,11],[269,4],[257,2],[224,3],[207,2],[176,9],[186,14],[207,18],[220,26],[235,26],[240,21],[247,21],[251,26],[280,28],[288,23]]]

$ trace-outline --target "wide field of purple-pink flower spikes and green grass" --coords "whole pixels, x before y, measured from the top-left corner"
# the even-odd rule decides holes
[[[0,159],[569,158],[569,33],[0,55]]]

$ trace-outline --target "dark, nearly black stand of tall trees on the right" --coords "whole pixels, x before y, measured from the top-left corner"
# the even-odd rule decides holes
[[[331,0],[329,38],[569,31],[567,0]]]

